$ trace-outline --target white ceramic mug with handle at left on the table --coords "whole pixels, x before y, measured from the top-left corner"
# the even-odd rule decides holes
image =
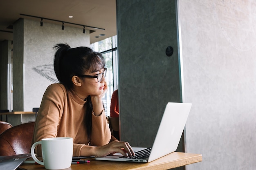
[[[42,145],[43,162],[35,156],[35,147]],[[45,166],[48,170],[60,170],[70,168],[73,156],[72,137],[45,138],[34,143],[31,147],[31,156],[36,163]]]

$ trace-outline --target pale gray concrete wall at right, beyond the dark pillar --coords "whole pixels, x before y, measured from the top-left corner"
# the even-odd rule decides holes
[[[187,170],[256,169],[256,3],[179,0]]]

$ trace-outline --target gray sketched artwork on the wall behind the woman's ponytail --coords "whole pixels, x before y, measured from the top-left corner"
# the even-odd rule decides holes
[[[53,64],[45,64],[42,66],[36,66],[32,68],[36,73],[45,77],[47,80],[53,83],[58,83],[58,79],[54,73],[54,66]]]

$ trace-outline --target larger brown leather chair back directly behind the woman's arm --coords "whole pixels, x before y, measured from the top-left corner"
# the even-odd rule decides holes
[[[30,153],[35,122],[13,126],[0,135],[0,156]]]

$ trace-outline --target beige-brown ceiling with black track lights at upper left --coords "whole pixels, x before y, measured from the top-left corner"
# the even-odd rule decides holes
[[[12,26],[19,18],[38,20],[38,24],[40,24],[40,18],[49,18],[105,29],[85,27],[92,30],[90,44],[98,42],[117,35],[115,2],[115,0],[0,0],[0,42],[13,40],[13,33],[10,33],[13,29],[7,27]],[[69,18],[70,15],[73,18]],[[60,24],[61,29],[62,22],[51,20],[43,20],[43,22]],[[64,25],[81,28],[81,33],[83,32],[83,26],[66,23]]]

